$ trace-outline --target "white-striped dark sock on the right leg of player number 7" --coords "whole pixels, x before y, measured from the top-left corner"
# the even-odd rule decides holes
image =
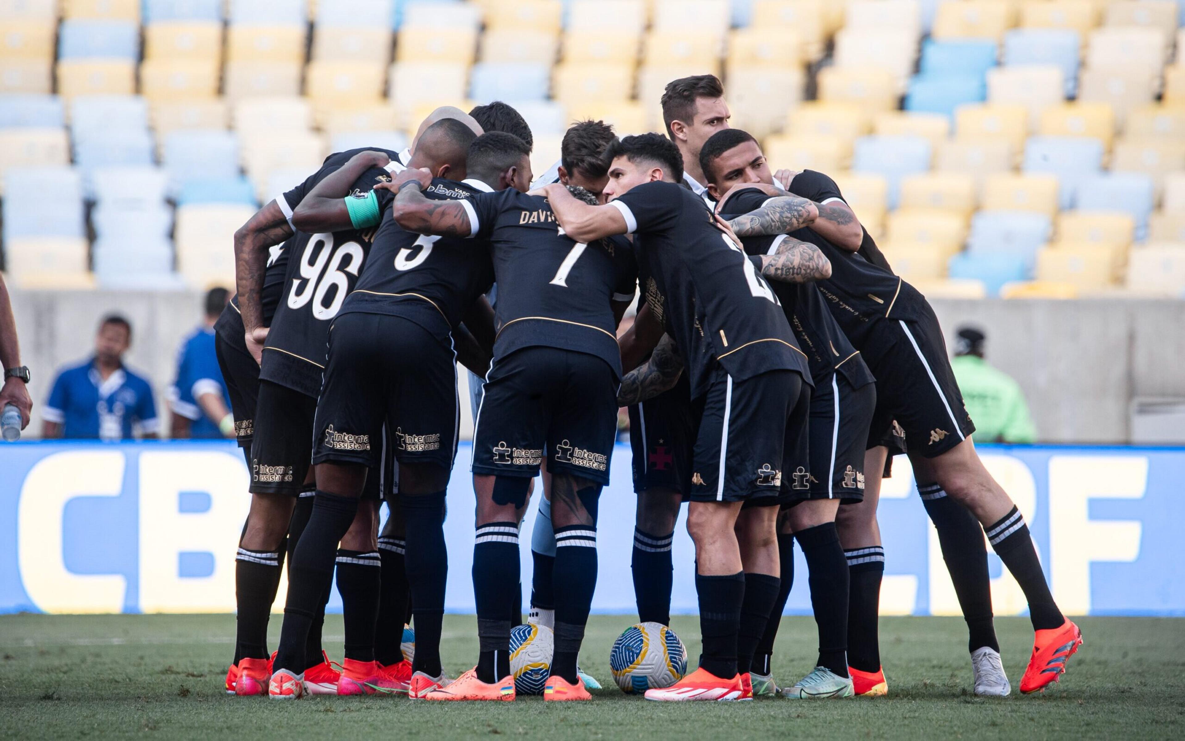
[[[589,621],[596,590],[596,525],[568,525],[556,529],[555,653],[551,673],[575,684],[576,659]]]

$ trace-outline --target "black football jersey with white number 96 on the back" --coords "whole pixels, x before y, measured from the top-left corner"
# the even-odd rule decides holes
[[[331,154],[320,170],[277,198],[277,202],[283,199],[295,209],[318,183],[337,172],[354,154],[365,151],[351,149]],[[395,152],[379,151],[386,152],[392,164],[389,168],[372,167],[364,172],[354,181],[352,196],[365,197],[377,183],[390,180],[390,171],[399,168]],[[376,196],[380,213],[387,210],[395,198],[386,190],[376,191]],[[263,347],[261,379],[316,397],[321,390],[329,321],[353,289],[374,231],[373,226],[315,235],[297,231],[289,239],[283,293]]]

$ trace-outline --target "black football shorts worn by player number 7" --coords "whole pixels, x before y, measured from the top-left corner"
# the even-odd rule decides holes
[[[473,472],[533,478],[547,471],[609,483],[617,436],[617,378],[595,354],[521,347],[486,377],[473,434]]]

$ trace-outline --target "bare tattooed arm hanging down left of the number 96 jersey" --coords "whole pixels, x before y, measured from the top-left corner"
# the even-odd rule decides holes
[[[281,196],[283,198],[283,196]],[[268,269],[268,249],[293,236],[288,218],[275,200],[268,202],[235,232],[235,288],[238,311],[243,315],[246,347],[258,363],[268,328],[263,325],[263,273]]]

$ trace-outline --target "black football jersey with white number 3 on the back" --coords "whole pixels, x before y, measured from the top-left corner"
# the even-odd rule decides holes
[[[424,190],[433,200],[460,200],[481,192],[472,180],[435,179]],[[361,312],[411,319],[429,332],[448,333],[494,281],[489,249],[472,239],[405,231],[383,213],[358,285],[339,314]]]

